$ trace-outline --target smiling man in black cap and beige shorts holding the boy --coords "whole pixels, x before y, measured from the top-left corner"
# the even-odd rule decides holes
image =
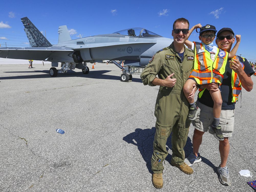
[[[234,43],[234,32],[231,28],[222,28],[217,33],[215,40],[218,48],[223,51],[230,52],[232,44]],[[243,87],[246,91],[251,91],[253,88],[253,82],[251,75],[254,73],[249,65],[247,59],[235,56],[233,59],[228,59],[223,73],[223,82],[220,86],[222,106],[220,114],[221,132],[224,136],[223,141],[219,141],[219,152],[221,163],[218,167],[218,173],[220,183],[226,186],[231,185],[231,179],[229,175],[229,169],[227,167],[227,160],[229,155],[229,140],[232,136],[234,128],[234,109],[235,104],[238,101],[238,96],[241,93]],[[192,121],[195,126],[193,135],[193,153],[185,159],[185,163],[192,166],[194,163],[201,161],[199,155],[199,147],[202,143],[202,136],[204,132],[209,130],[209,133],[213,134],[210,127],[212,122],[212,107],[213,101],[210,97],[210,91],[218,89],[215,83],[204,85],[202,90],[198,94],[197,105],[200,108],[200,115]],[[200,94],[201,93],[201,94]]]

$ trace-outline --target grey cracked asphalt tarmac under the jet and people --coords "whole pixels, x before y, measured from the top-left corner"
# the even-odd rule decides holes
[[[75,69],[57,77],[50,64],[33,67],[0,65],[0,191],[254,191],[246,182],[256,179],[255,76],[254,89],[243,89],[236,104],[231,186],[219,182],[218,141],[206,133],[192,175],[170,165],[169,138],[164,186],[156,189],[150,158],[158,86],[144,86],[139,74],[122,82],[114,64],[89,63],[89,74]],[[191,125],[186,156],[193,131]]]

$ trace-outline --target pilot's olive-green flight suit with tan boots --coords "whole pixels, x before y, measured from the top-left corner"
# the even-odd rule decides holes
[[[189,103],[183,93],[183,86],[193,67],[194,53],[184,46],[182,60],[174,47],[175,42],[169,47],[158,51],[141,73],[143,84],[150,86],[155,86],[152,82],[157,78],[157,75],[161,80],[165,80],[168,76],[171,79],[176,78],[176,83],[173,87],[160,86],[155,105],[156,133],[153,142],[151,167],[153,177],[154,174],[161,174],[159,175],[161,179],[164,169],[163,161],[168,155],[166,141],[171,132],[173,132],[172,165],[186,174],[193,173],[193,169],[184,163],[185,152],[183,148],[187,141],[191,121],[187,119]],[[173,76],[171,76],[172,73],[174,73]],[[161,188],[163,185],[159,184],[157,186],[153,181],[153,177],[153,185],[156,188]]]

